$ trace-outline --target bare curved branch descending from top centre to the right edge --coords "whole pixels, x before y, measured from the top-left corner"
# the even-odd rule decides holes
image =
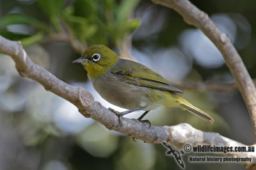
[[[253,131],[256,138],[256,89],[243,60],[232,45],[227,34],[221,32],[204,11],[199,10],[188,0],[152,0],[177,11],[190,25],[198,27],[205,36],[220,50],[228,69],[234,76],[237,87],[250,113]]]

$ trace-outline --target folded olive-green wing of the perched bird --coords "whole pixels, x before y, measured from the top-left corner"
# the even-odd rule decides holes
[[[118,62],[119,63],[111,69],[111,73],[116,76],[122,76],[127,80],[127,83],[141,87],[182,93],[182,90],[172,87],[162,76],[142,64],[123,59],[120,59]]]

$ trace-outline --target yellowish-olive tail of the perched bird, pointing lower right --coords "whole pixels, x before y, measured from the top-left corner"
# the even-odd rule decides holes
[[[170,94],[169,94],[170,95]],[[185,110],[188,110],[189,112],[193,113],[194,115],[206,120],[207,122],[213,124],[214,120],[212,117],[207,115],[204,111],[196,108],[192,104],[190,104],[188,101],[183,99],[180,96],[177,96],[176,94],[172,94],[172,97],[168,97],[170,100],[166,101],[164,105],[171,106],[171,107],[178,107],[178,108],[184,108]]]

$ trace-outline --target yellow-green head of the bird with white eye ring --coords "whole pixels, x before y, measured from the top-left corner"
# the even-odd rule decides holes
[[[83,52],[82,57],[74,62],[80,62],[88,72],[89,78],[98,78],[106,73],[118,61],[115,52],[104,45],[92,45]]]

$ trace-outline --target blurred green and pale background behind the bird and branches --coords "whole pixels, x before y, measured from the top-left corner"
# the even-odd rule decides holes
[[[191,2],[228,34],[254,78],[256,1]],[[220,52],[201,31],[151,1],[0,0],[0,34],[22,41],[33,61],[115,110],[123,109],[104,101],[83,67],[71,64],[86,46],[104,44],[126,59],[131,55],[176,85],[234,82]],[[255,142],[239,92],[185,90],[183,97],[211,115],[214,125],[176,108],[158,108],[147,118],[153,125],[186,122],[246,145]],[[164,153],[162,145],[134,142],[84,118],[37,82],[20,78],[13,60],[0,54],[0,169],[180,169]],[[193,164],[188,156],[183,157],[187,169],[244,169],[236,163]]]

